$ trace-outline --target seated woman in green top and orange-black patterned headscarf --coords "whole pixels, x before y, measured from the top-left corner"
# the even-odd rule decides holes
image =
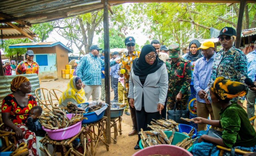
[[[206,135],[207,131],[199,131],[197,134],[199,143],[194,144],[193,155],[218,155],[219,150],[214,145],[256,152],[256,132],[246,112],[237,102],[231,103],[231,99],[246,95],[245,85],[218,77],[209,90],[212,102],[221,107],[220,120],[208,120],[202,117],[196,117],[193,120],[195,123],[222,128],[223,131],[218,138]],[[210,151],[211,147],[213,148]],[[224,152],[223,155],[230,155],[230,152]]]

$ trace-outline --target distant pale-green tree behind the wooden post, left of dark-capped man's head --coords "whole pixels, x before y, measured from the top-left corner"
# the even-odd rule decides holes
[[[121,32],[110,29],[109,30],[109,48],[125,48],[124,45],[125,35]],[[100,48],[104,49],[104,34],[102,33],[101,37],[98,39],[98,45]]]

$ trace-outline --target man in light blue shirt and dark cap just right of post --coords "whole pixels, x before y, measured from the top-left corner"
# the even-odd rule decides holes
[[[113,52],[112,54],[112,58],[116,59],[117,57],[119,57],[119,53],[117,51]],[[112,80],[113,80],[113,89],[114,89],[114,99],[110,102],[118,102],[118,92],[117,92],[117,86],[118,86],[118,70],[119,70],[119,64],[116,64],[114,66],[111,67],[110,70],[110,75],[112,75]]]

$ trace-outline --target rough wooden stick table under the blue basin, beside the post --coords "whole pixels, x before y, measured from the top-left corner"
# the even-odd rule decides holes
[[[106,118],[107,117],[102,117],[97,122],[87,124],[87,127],[83,130],[83,135],[87,138],[90,138],[90,141],[88,141],[88,143],[90,144],[90,149],[87,148],[87,150],[91,156],[94,156],[99,141],[102,141],[105,144],[107,151],[109,150],[105,129]],[[95,131],[96,129],[97,132]],[[88,152],[86,152],[86,154]]]

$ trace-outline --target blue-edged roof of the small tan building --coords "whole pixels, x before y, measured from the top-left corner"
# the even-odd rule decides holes
[[[35,48],[35,47],[53,47],[56,45],[61,45],[64,47],[68,52],[73,52],[73,50],[66,47],[62,42],[31,42],[31,43],[19,43],[9,45],[9,48]]]

